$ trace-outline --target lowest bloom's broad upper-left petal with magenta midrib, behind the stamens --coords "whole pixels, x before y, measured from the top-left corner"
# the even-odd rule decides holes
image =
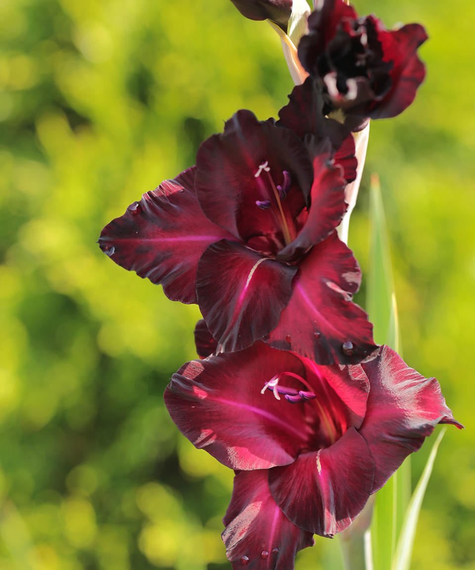
[[[178,429],[232,469],[267,469],[294,461],[308,445],[303,414],[269,390],[276,374],[305,374],[297,356],[264,343],[185,364],[165,390]]]

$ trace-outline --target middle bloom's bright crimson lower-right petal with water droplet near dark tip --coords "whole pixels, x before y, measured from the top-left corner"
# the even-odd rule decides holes
[[[292,297],[268,337],[269,344],[319,364],[362,361],[376,346],[372,324],[352,302],[360,278],[351,250],[336,232],[330,234],[299,265]]]

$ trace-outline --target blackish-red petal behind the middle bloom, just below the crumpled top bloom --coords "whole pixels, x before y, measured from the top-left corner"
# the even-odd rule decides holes
[[[294,87],[289,103],[279,111],[279,117],[277,125],[291,129],[301,139],[306,135],[315,135],[317,141],[330,139],[335,164],[342,166],[347,182],[355,180],[358,162],[353,136],[338,121],[324,117],[322,93],[312,78],[308,77],[305,83]]]

